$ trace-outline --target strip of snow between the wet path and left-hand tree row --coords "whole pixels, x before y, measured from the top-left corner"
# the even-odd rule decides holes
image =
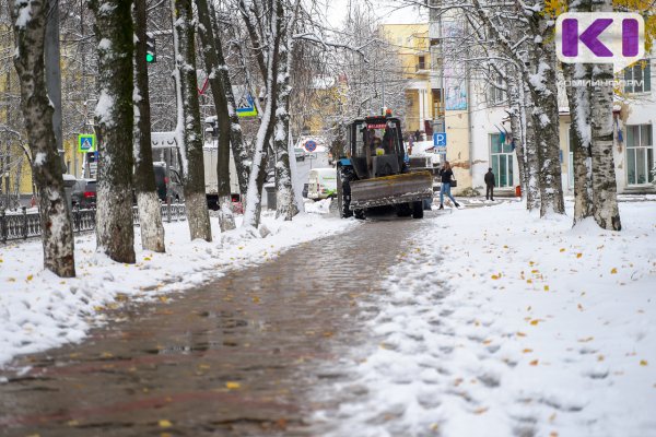
[[[214,280],[229,269],[267,262],[283,249],[345,231],[356,222],[318,214],[281,222],[263,213],[262,223],[270,235],[249,238],[239,228],[221,235],[212,218],[214,243],[189,241],[187,222],[165,224],[167,253],[141,250],[137,227],[132,265],[96,252],[94,234],[77,236],[74,279],[43,270],[40,240],[0,246],[0,367],[17,354],[81,341],[105,320],[105,308],[116,308],[122,300],[166,302],[162,293]]]

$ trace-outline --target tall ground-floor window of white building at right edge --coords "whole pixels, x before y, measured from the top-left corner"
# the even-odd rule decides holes
[[[654,181],[652,125],[626,126],[626,177],[629,185]]]

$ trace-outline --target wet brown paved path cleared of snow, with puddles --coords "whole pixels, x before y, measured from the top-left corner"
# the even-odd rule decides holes
[[[427,221],[368,222],[0,371],[0,435],[308,435],[323,374],[364,341],[367,300]]]

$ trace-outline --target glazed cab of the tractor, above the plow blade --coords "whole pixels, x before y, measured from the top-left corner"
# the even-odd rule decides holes
[[[405,173],[401,121],[394,117],[366,117],[350,126],[348,156],[359,179]]]

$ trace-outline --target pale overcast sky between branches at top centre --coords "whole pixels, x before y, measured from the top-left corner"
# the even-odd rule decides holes
[[[345,17],[349,0],[323,0],[326,4],[326,14],[332,26],[338,26]],[[363,4],[366,0],[351,0],[352,2],[360,1]],[[380,21],[386,24],[413,24],[426,23],[427,13],[422,10],[421,13],[417,8],[405,7],[399,8],[400,1],[394,0],[368,0],[374,4],[377,15]]]

